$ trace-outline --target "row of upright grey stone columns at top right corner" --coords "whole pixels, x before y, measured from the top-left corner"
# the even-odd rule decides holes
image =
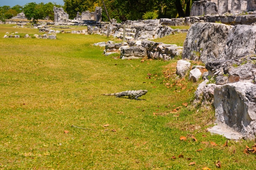
[[[255,11],[256,0],[201,0],[192,4],[190,16]]]

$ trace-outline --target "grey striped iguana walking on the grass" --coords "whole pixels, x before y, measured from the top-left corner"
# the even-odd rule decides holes
[[[138,97],[145,95],[147,92],[148,90],[127,90],[119,93],[101,94],[101,95],[117,96],[117,97],[128,96],[128,98],[130,99],[138,100]]]

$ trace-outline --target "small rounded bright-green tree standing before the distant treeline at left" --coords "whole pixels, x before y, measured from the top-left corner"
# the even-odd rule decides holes
[[[25,5],[24,14],[28,20],[32,20],[34,24],[38,22],[39,19],[43,19],[45,15],[45,11],[43,10],[44,3],[36,4],[35,2],[31,2]]]

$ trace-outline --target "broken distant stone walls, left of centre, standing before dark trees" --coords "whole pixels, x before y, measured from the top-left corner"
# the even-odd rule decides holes
[[[69,15],[64,11],[63,8],[54,7],[54,22],[70,22]],[[83,11],[80,15],[80,12],[76,13],[74,20],[77,21],[96,21],[101,22],[101,7],[96,7],[94,12]]]

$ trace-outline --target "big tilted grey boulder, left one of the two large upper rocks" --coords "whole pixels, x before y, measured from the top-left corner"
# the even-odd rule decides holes
[[[187,33],[182,52],[183,59],[204,63],[219,59],[223,52],[231,26],[218,23],[195,23]]]

